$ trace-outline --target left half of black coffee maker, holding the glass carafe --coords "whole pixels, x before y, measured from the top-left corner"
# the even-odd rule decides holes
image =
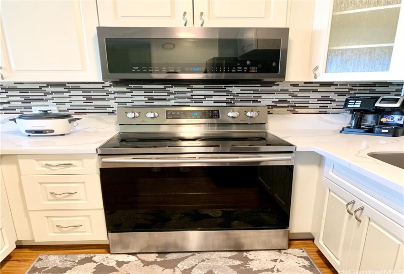
[[[373,132],[378,122],[378,112],[375,108],[380,96],[351,96],[346,98],[344,109],[350,110],[349,126],[343,127],[341,133],[361,134]]]

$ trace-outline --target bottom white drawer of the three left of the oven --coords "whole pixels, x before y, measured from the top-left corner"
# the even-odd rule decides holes
[[[103,209],[30,211],[36,242],[107,240]]]

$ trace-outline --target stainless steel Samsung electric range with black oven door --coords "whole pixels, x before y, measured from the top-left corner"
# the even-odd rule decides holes
[[[119,107],[98,148],[112,253],[286,249],[295,146],[265,106]]]

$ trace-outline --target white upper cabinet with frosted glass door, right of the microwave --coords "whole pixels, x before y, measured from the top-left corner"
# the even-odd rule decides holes
[[[317,0],[309,79],[404,81],[402,0]]]

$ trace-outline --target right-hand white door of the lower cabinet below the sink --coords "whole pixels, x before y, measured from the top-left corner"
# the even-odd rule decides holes
[[[358,206],[347,269],[403,270],[404,228],[363,202]]]

